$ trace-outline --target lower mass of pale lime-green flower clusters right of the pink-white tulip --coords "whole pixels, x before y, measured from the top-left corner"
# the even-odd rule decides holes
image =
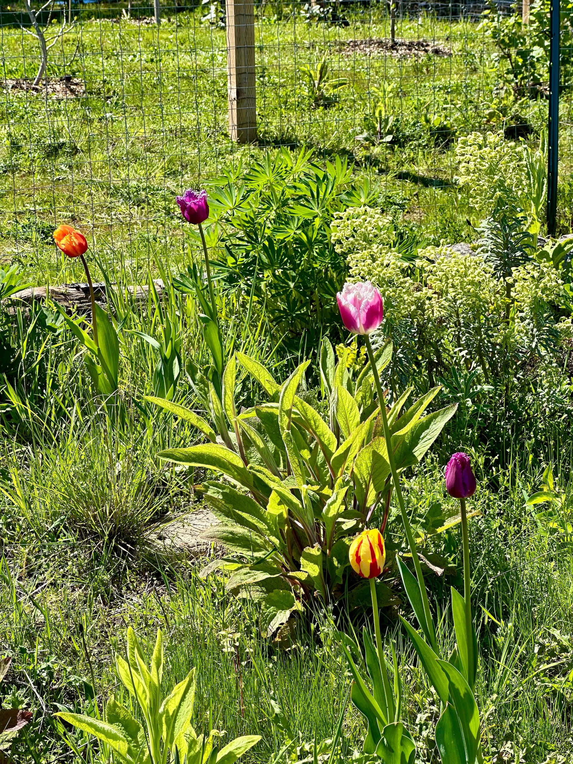
[[[462,362],[479,365],[489,384],[513,374],[531,354],[549,360],[570,334],[555,319],[563,283],[552,264],[531,261],[514,268],[506,282],[480,255],[445,244],[405,261],[392,249],[384,220],[369,208],[346,210],[333,223],[335,248],[346,257],[352,280],[369,280],[380,290],[384,332],[410,374],[422,367],[430,376],[444,374]]]

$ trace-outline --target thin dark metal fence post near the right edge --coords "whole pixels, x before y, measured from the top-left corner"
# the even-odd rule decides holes
[[[559,144],[559,0],[551,0],[549,44],[549,123],[547,129],[547,233],[555,236]]]

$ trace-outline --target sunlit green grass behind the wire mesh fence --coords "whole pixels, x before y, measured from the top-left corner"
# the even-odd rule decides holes
[[[477,22],[422,15],[397,24],[398,37],[431,40],[449,56],[346,55],[345,40],[387,37],[384,14],[349,9],[348,27],[336,27],[307,24],[299,15],[274,21],[267,8],[255,22],[259,142],[238,147],[228,138],[225,31],[201,23],[202,14],[197,8],[165,18],[159,31],[79,15],[50,51],[48,74],[79,77],[86,94],[56,100],[12,89],[2,99],[5,262],[20,262],[37,282],[83,280],[51,241],[55,225],[74,222],[92,233],[93,251],[113,262],[112,272],[126,269],[141,280],[156,257],[184,258],[176,193],[213,180],[229,164],[247,166],[279,144],[313,147],[319,160],[345,154],[435,243],[471,237],[452,186],[453,142],[423,119],[440,115],[453,134],[484,128],[500,68]],[[5,78],[34,73],[33,37],[2,27],[0,50]],[[332,108],[313,109],[301,66],[316,66],[323,53],[330,76],[345,77],[348,86]],[[361,144],[355,137],[372,130],[375,89],[384,81],[392,86],[387,110],[396,119],[395,139]],[[520,109],[539,130],[545,102]]]

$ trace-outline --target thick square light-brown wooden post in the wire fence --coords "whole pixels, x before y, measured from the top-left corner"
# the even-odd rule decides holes
[[[227,13],[228,127],[231,141],[257,140],[253,0],[225,0]]]

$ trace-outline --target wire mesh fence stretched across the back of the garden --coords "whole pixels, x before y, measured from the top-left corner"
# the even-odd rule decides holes
[[[44,270],[60,222],[148,259],[180,226],[176,193],[281,146],[345,158],[406,219],[459,238],[456,138],[527,139],[547,121],[543,21],[521,24],[521,6],[262,0],[256,140],[241,145],[224,4],[23,2],[0,10],[2,256]],[[562,121],[566,168],[570,105]]]

